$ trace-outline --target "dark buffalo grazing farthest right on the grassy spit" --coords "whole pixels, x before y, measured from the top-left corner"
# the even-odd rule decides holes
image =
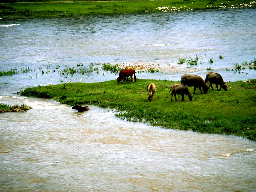
[[[224,83],[222,76],[218,73],[208,72],[205,76],[204,83],[207,83],[207,81],[210,82],[211,87],[212,87],[212,84],[215,84],[217,91],[220,91],[221,88],[223,88],[225,91],[228,91],[227,84]],[[220,89],[218,89],[218,85],[220,85]],[[212,87],[212,90],[214,90],[213,87]]]

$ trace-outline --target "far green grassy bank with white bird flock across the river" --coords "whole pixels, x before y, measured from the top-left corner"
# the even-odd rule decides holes
[[[162,1],[23,1],[1,0],[0,16],[52,17],[88,14],[177,12],[198,9],[255,7],[254,1],[162,0]],[[12,2],[12,3],[10,3]]]

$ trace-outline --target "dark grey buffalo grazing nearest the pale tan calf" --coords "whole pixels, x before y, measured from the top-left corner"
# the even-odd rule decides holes
[[[173,84],[169,92],[171,92],[171,90],[172,90],[171,101],[172,101],[172,95],[173,94],[174,94],[174,98],[175,98],[176,101],[177,101],[176,94],[179,94],[179,95],[181,94],[181,97],[182,97],[181,101],[185,101],[184,100],[184,95],[188,95],[189,100],[192,101],[193,95],[189,92],[187,85]]]

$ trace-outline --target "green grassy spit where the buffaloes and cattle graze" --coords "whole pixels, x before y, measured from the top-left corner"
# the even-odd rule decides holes
[[[147,85],[156,84],[153,100],[148,101]],[[233,134],[256,140],[256,80],[228,83],[228,91],[196,90],[193,101],[170,101],[174,81],[138,79],[129,84],[116,80],[101,83],[70,83],[27,88],[25,96],[53,98],[68,105],[90,104],[117,109],[116,116],[133,122],[201,133]],[[193,87],[189,87],[193,92]],[[174,99],[174,98],[173,98]]]

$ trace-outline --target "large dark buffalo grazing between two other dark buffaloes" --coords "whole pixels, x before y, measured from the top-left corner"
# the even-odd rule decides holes
[[[201,94],[203,94],[203,92],[201,90],[201,87],[203,88],[204,93],[207,93],[208,89],[210,87],[210,85],[207,86],[204,83],[203,78],[198,76],[198,75],[185,74],[185,75],[181,76],[181,84],[188,85],[188,87],[194,86],[194,93],[193,94],[196,94],[196,88],[197,87],[199,88]]]

